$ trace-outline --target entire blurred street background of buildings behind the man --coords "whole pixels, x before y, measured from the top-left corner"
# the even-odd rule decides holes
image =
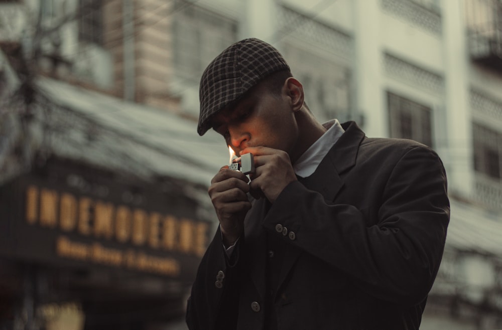
[[[320,121],[435,149],[451,221],[421,329],[502,329],[502,1],[0,1],[0,329],[186,329],[228,151],[196,133],[231,43]]]

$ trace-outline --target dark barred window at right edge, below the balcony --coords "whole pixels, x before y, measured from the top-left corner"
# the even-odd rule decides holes
[[[502,133],[474,123],[474,170],[488,177],[502,178]]]

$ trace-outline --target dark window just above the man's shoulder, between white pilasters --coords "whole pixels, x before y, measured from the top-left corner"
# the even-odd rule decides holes
[[[387,93],[391,137],[407,138],[432,147],[431,109]]]

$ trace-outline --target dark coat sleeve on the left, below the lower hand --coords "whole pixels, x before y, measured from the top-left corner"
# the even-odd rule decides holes
[[[238,257],[242,240],[228,258],[218,227],[202,257],[187,301],[186,322],[190,330],[234,330],[238,315]],[[218,284],[219,283],[219,284]]]

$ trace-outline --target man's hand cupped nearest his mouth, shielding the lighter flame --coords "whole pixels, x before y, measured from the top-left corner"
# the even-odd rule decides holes
[[[260,191],[274,203],[279,194],[293,181],[297,181],[295,171],[287,152],[264,146],[242,149],[240,154],[253,153],[255,173],[250,175],[251,191]]]

